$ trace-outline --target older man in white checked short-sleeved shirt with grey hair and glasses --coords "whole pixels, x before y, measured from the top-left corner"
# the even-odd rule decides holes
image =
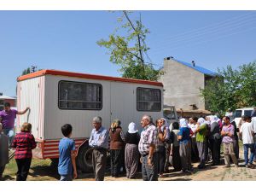
[[[142,155],[143,181],[157,181],[158,159],[157,154],[154,153],[158,139],[157,128],[153,125],[153,119],[148,115],[143,116],[141,125],[144,130],[141,133],[138,149]]]

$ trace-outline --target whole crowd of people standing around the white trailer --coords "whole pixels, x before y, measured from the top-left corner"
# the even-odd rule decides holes
[[[3,177],[5,165],[9,162],[8,148],[15,148],[15,160],[18,167],[17,181],[26,181],[32,161],[32,149],[36,148],[32,136],[32,125],[24,123],[20,132],[14,136],[14,119],[22,112],[10,109],[9,103],[0,113],[0,177]],[[230,122],[230,116],[219,119],[215,115],[207,117],[181,117],[178,122],[168,125],[164,118],[155,121],[149,115],[143,115],[139,131],[138,125],[131,122],[124,132],[119,119],[113,120],[110,128],[102,126],[102,118],[92,119],[89,146],[92,148],[92,166],[96,181],[103,181],[107,166],[108,151],[112,177],[120,177],[125,172],[127,178],[136,178],[141,166],[143,181],[157,181],[173,166],[176,172],[192,172],[192,162],[198,162],[198,169],[220,165],[221,145],[224,152],[224,167],[231,162],[238,167],[239,139],[243,143],[244,165],[254,168],[256,158],[256,108],[252,116],[243,116],[238,126]],[[59,143],[58,173],[61,181],[71,181],[78,177],[73,126],[61,126],[63,138]],[[248,158],[248,150],[250,157]],[[139,176],[141,177],[141,176]]]

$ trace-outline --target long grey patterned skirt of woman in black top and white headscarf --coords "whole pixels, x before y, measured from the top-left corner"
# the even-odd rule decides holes
[[[125,169],[126,177],[134,178],[139,162],[139,151],[136,144],[127,143],[125,146]]]

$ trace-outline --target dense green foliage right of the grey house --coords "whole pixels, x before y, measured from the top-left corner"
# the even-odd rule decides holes
[[[213,113],[224,114],[231,108],[256,106],[256,61],[233,69],[218,69],[218,77],[207,82],[201,96]]]

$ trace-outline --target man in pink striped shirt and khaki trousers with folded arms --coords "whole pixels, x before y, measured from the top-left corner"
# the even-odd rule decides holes
[[[235,164],[236,167],[238,167],[238,161],[236,159],[236,155],[234,152],[234,132],[235,127],[234,125],[230,124],[230,117],[224,117],[224,126],[221,131],[221,136],[223,137],[222,143],[224,144],[224,161],[225,161],[225,167],[230,167],[230,156]]]

